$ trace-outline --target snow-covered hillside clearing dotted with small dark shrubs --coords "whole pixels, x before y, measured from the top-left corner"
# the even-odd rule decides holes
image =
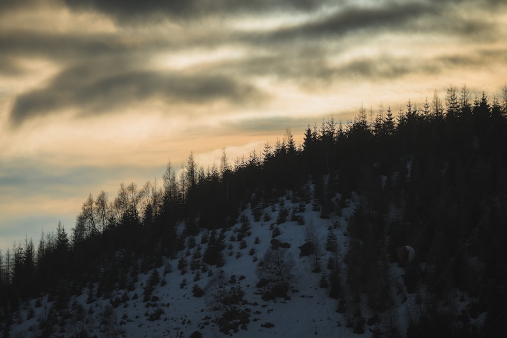
[[[209,307],[206,296],[194,296],[193,292],[195,285],[198,285],[200,289],[205,289],[213,276],[222,273],[231,284],[240,286],[244,291],[243,301],[238,308],[249,314],[249,317],[237,327],[236,332],[235,329],[226,330],[231,336],[294,338],[371,336],[370,329],[374,327],[373,324],[366,325],[365,333],[359,335],[353,333],[352,327],[346,327],[345,316],[336,311],[338,301],[328,296],[327,288],[319,286],[321,274],[313,272],[313,257],[311,255],[301,257],[299,249],[307,242],[308,224],[313,223],[320,244],[322,272],[327,273],[326,262],[332,253],[325,250],[325,242],[328,229],[333,227],[332,231],[337,237],[338,244],[336,257],[340,270],[344,272],[346,265],[343,258],[348,248],[347,219],[353,211],[353,201],[349,201],[348,207],[342,209],[340,217],[334,217],[334,222],[330,219],[321,219],[319,212],[312,210],[312,203],[294,202],[290,194],[282,198],[281,202],[282,206],[279,201],[263,209],[263,216],[259,221],[254,220],[249,206],[241,211],[243,221],[249,223],[250,229],[243,238],[243,245],[236,238],[241,222],[225,232],[225,249],[223,250],[225,265],[223,267],[204,266],[203,268],[203,265],[200,265],[200,268],[195,271],[189,267],[193,255],[200,249],[202,256],[206,247],[205,244],[200,244],[201,237],[205,232],[207,234],[209,232],[201,230],[195,237],[196,246],[189,248],[189,241],[186,241],[186,248],[179,251],[173,259],[168,257],[163,259],[163,265],[157,268],[159,281],[155,282],[156,285],[150,296],[144,297],[143,293],[150,282],[153,270],[139,274],[130,291],[116,287],[113,294],[106,298],[101,296],[93,299],[97,283],[93,285],[92,290],[88,287],[83,288],[81,295],[70,297],[66,310],[63,311],[65,315],[60,312],[57,316],[54,311],[52,312],[51,308],[55,300],[52,299],[50,302],[48,296],[43,295],[21,305],[15,316],[15,322],[11,326],[11,335],[40,336],[43,330],[46,330],[45,332],[49,330],[54,333],[53,336],[69,337],[226,336],[215,322],[221,313]],[[286,210],[299,208],[299,223],[302,223],[302,216],[306,225],[289,221],[291,217],[287,217],[287,221],[277,225],[276,220],[281,208]],[[183,231],[183,228],[182,223],[179,231]],[[270,242],[273,239],[273,232],[276,232],[275,229],[280,230],[280,234],[275,236],[275,239],[280,243],[290,245],[280,250],[289,252],[295,265],[287,297],[264,301],[262,292],[256,286],[259,282],[256,268],[264,253],[271,247]],[[198,253],[196,255],[199,256]],[[177,267],[178,261],[184,256],[189,266],[182,274]],[[171,271],[168,272],[168,270]],[[394,279],[402,278],[403,271],[396,264],[392,265],[391,270]],[[345,274],[341,275],[340,278],[345,278],[343,277]],[[90,295],[92,295],[91,299]],[[399,294],[396,298],[399,304],[395,316],[399,318],[398,324],[402,329],[406,326],[403,319],[406,317],[406,305],[412,302],[411,298],[405,301],[406,296],[406,294]],[[374,314],[369,312],[366,301],[364,303],[361,305],[363,316],[365,319],[373,317]]]

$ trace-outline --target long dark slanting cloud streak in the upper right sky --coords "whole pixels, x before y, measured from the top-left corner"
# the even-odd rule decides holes
[[[367,33],[373,37],[380,32],[402,35],[449,34],[464,39],[480,39],[491,35],[489,39],[494,39],[498,23],[491,21],[489,15],[484,17],[484,13],[470,15],[476,12],[477,5],[462,0],[387,1],[369,6],[352,3],[343,5],[329,15],[269,32],[252,33],[244,39],[252,43],[269,43],[271,46],[295,41],[306,44],[327,43],[339,41],[348,34]]]

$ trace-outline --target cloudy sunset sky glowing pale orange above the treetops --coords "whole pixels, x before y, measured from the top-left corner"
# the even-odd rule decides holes
[[[88,195],[507,81],[502,0],[0,0],[0,249]]]

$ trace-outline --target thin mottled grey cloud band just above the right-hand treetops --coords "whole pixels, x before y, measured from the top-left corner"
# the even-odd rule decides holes
[[[348,61],[328,60],[330,55],[338,53],[325,48],[293,48],[269,56],[250,56],[234,63],[212,66],[223,72],[241,73],[246,77],[276,76],[309,89],[315,85],[327,86],[336,81],[382,82],[403,78],[409,74],[437,75],[449,69],[478,69],[507,62],[507,51],[504,49],[476,50],[466,54],[450,49],[448,54],[444,55],[411,57],[396,56],[386,50],[382,54],[358,56]]]

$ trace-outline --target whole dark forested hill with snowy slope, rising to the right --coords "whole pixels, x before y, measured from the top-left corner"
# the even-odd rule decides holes
[[[495,336],[505,312],[507,88],[287,130],[162,187],[122,184],[0,260],[15,336]],[[410,245],[415,258],[398,257]]]

